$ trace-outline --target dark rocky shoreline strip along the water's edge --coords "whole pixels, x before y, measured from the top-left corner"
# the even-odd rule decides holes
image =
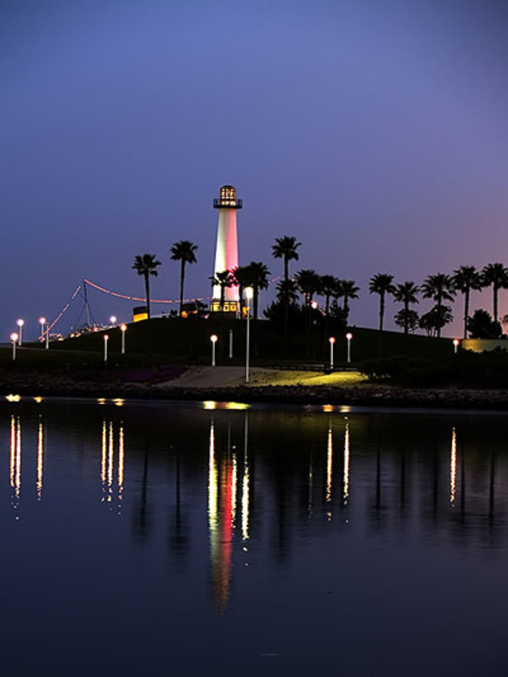
[[[0,383],[0,395],[508,410],[508,391],[505,390],[410,389],[373,384],[350,387],[326,385],[177,387],[150,383],[77,382],[66,378],[43,376],[26,378],[25,375],[24,378],[3,378]]]

